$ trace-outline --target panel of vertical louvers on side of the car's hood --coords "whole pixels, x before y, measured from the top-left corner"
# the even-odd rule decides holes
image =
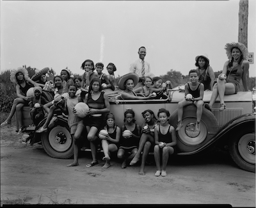
[[[243,114],[243,108],[226,108],[224,111],[212,108],[212,113],[216,117],[219,126],[223,126],[233,118]]]

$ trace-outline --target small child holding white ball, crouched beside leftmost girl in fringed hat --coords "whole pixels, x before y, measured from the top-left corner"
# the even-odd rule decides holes
[[[33,120],[34,125],[38,125],[41,120],[44,118],[44,108],[43,105],[47,104],[45,97],[42,97],[42,88],[40,86],[34,87],[35,97],[31,98],[29,102],[30,107],[30,116]]]

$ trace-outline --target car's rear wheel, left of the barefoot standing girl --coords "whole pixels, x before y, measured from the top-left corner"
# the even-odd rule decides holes
[[[74,144],[67,122],[57,122],[52,129],[42,134],[42,145],[51,157],[60,159],[72,157]]]

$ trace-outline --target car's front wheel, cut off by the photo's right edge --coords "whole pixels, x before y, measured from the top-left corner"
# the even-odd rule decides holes
[[[241,169],[255,172],[255,132],[250,129],[242,130],[228,140],[228,150]]]

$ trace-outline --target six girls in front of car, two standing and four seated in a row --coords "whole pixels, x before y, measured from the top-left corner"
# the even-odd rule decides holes
[[[157,116],[148,109],[143,111],[142,116],[145,122],[140,126],[136,124],[135,114],[132,109],[127,109],[124,113],[124,125],[118,127],[115,124],[115,115],[109,112],[109,100],[108,95],[102,92],[101,81],[99,78],[93,78],[88,93],[86,93],[82,102],[85,102],[89,106],[89,111],[86,113],[85,118],[78,118],[76,116],[76,109],[74,106],[79,102],[78,99],[74,102],[68,100],[76,97],[76,86],[70,86],[69,98],[67,98],[64,104],[64,110],[68,110],[68,114],[72,115],[72,118],[68,116],[68,122],[70,125],[70,134],[74,141],[74,161],[67,166],[77,166],[78,163],[78,150],[79,140],[81,141],[81,134],[86,130],[87,140],[90,141],[90,148],[92,152],[92,162],[86,164],[86,167],[92,167],[99,164],[97,159],[97,147],[101,145],[104,152],[102,160],[105,161],[102,168],[109,168],[111,166],[111,154],[116,152],[116,156],[122,159],[122,168],[126,168],[127,165],[134,165],[140,161],[140,155],[142,154],[141,167],[139,174],[145,175],[144,168],[147,159],[148,152],[154,150],[154,157],[156,160],[157,171],[156,176],[166,176],[166,164],[169,156],[174,153],[174,146],[176,145],[176,133],[174,127],[168,124],[170,113],[166,109],[159,109]],[[77,98],[77,97],[76,97]],[[62,107],[61,107],[62,108]],[[104,117],[104,114],[106,117]],[[77,120],[74,120],[74,115]],[[72,127],[76,126],[76,131],[71,131]],[[74,127],[75,129],[75,127]],[[99,137],[99,131],[105,129],[108,131],[108,135]],[[129,130],[130,136],[123,136],[123,132]],[[160,165],[162,156],[162,168]]]

